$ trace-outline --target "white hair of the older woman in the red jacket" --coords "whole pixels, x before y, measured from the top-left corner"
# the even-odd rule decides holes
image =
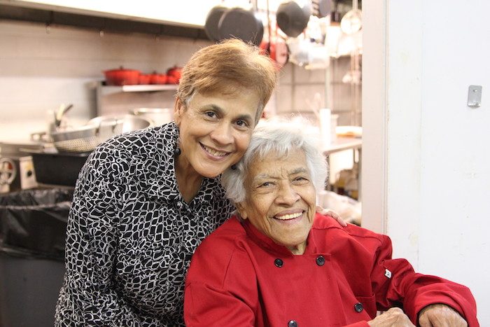
[[[253,160],[262,160],[271,152],[280,157],[287,156],[296,149],[303,151],[306,156],[307,167],[316,191],[324,190],[328,164],[320,148],[320,137],[313,130],[311,124],[301,117],[261,120],[253,131],[250,145],[243,158],[221,175],[226,197],[235,203],[245,200],[245,179]]]

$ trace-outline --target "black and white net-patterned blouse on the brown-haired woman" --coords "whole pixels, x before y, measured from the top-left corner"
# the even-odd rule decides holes
[[[219,179],[187,204],[176,183],[175,123],[123,134],[80,171],[56,326],[183,326],[183,286],[202,239],[234,207]]]

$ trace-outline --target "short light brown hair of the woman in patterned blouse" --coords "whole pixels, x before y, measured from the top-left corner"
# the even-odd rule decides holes
[[[260,103],[255,123],[276,86],[276,66],[260,49],[239,39],[227,39],[198,50],[182,69],[177,97],[188,105],[195,92],[207,94],[237,87],[256,90]]]

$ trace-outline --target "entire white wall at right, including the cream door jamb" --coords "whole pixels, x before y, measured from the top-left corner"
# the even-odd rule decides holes
[[[387,232],[416,270],[469,286],[490,326],[490,3],[363,10],[381,18],[364,25],[363,225]],[[466,106],[469,85],[483,86],[479,109]]]

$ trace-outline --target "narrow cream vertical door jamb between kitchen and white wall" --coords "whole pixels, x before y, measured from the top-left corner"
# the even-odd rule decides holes
[[[365,2],[362,225],[375,232],[386,232],[386,4],[384,1]]]

